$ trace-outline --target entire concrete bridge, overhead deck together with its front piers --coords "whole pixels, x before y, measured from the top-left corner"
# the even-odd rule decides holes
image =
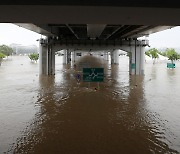
[[[123,49],[131,53],[130,72],[143,74],[148,42],[137,38],[180,25],[176,1],[7,0],[0,4],[0,22],[47,36],[40,41],[41,74],[54,74],[54,52],[63,48],[109,50],[112,57],[115,50]]]

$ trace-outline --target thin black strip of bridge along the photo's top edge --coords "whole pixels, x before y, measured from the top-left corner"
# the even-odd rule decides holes
[[[159,7],[159,8],[179,8],[176,0],[164,1],[144,1],[144,0],[6,0],[1,1],[2,5],[81,5],[81,6],[126,6],[126,7]]]

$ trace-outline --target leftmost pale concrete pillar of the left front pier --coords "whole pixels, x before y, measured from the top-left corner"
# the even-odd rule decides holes
[[[46,44],[43,44],[43,40],[40,40],[39,47],[39,74],[47,75],[47,65],[48,65],[48,48]]]

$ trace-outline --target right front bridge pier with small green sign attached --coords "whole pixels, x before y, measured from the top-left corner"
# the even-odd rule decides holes
[[[131,75],[144,75],[144,47],[132,46],[129,58],[129,72]]]

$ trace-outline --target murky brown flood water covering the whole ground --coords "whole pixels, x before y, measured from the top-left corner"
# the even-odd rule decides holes
[[[145,64],[145,76],[86,56],[76,68],[56,57],[56,75],[9,57],[0,67],[0,153],[180,153],[180,63]],[[77,81],[103,67],[103,83]],[[82,78],[81,78],[82,79]]]

